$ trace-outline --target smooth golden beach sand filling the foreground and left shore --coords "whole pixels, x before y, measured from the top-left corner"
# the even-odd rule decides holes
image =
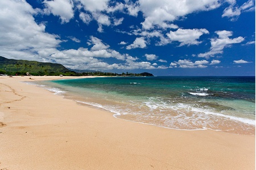
[[[255,169],[255,136],[171,130],[113,117],[0,76],[0,169]]]

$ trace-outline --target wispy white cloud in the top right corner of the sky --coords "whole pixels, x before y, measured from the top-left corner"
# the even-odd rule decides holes
[[[249,12],[255,10],[255,5],[253,0],[249,0],[243,3],[242,6],[236,6],[236,1],[230,1],[230,6],[225,8],[222,18],[228,17],[231,21],[236,21],[238,16],[241,15],[242,12]]]

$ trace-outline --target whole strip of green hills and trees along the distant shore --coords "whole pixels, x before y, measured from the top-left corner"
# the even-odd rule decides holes
[[[153,76],[151,73],[108,73],[92,70],[71,70],[58,63],[7,59],[0,56],[0,75],[35,75],[35,76]]]

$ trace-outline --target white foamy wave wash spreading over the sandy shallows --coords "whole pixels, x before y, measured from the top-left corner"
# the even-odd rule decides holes
[[[106,111],[114,113],[116,118],[122,118],[122,115],[131,115],[137,119],[128,121],[135,121],[142,124],[149,124],[160,126],[168,129],[177,130],[205,130],[212,129],[216,131],[232,131],[232,126],[227,126],[226,129],[219,129],[217,124],[225,124],[225,120],[233,122],[241,122],[242,124],[255,126],[255,121],[248,118],[241,118],[230,116],[222,113],[217,113],[212,109],[198,108],[191,104],[184,103],[165,103],[156,97],[150,97],[148,101],[144,101],[139,106],[138,102],[129,102],[127,107],[123,105],[108,105],[98,104],[87,101],[78,101],[78,103],[91,105],[93,107],[105,109]],[[148,111],[141,111],[141,108],[148,108]],[[135,111],[134,107],[138,110]],[[175,114],[173,114],[175,113]],[[121,116],[121,117],[120,117]],[[156,121],[156,119],[158,121]],[[221,120],[221,121],[220,121]],[[162,122],[162,123],[160,123]],[[241,127],[243,125],[241,124]]]

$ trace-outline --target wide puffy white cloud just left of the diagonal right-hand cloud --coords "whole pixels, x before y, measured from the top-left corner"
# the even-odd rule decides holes
[[[197,45],[200,41],[197,41],[201,35],[209,33],[207,29],[177,29],[177,31],[170,31],[166,35],[170,41],[179,41],[180,46],[183,45]]]

